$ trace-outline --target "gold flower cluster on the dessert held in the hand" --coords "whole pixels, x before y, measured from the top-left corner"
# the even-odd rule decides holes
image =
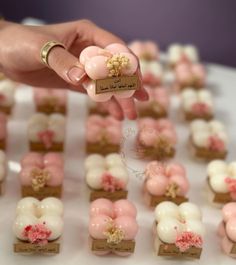
[[[124,55],[115,54],[106,61],[106,66],[109,70],[109,77],[118,77],[121,71],[129,66],[130,60]]]

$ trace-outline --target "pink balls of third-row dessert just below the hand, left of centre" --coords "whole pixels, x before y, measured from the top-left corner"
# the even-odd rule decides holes
[[[115,118],[91,115],[86,124],[86,139],[89,143],[106,140],[111,144],[120,144],[122,137],[121,122]]]

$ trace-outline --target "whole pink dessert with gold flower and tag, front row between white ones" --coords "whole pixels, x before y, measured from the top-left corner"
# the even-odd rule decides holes
[[[97,199],[90,206],[89,235],[91,250],[97,255],[113,252],[128,256],[134,252],[138,233],[137,210],[128,200],[112,203]]]

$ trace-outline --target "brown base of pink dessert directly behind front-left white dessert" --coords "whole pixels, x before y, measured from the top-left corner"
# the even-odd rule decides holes
[[[35,197],[38,200],[43,200],[47,197],[61,198],[63,187],[62,185],[56,187],[45,186],[38,191],[34,190],[31,186],[21,187],[21,196],[24,197]]]

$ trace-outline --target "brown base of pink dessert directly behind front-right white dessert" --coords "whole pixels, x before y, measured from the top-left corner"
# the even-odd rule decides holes
[[[188,201],[188,198],[183,197],[183,196],[176,196],[175,198],[172,198],[166,195],[155,196],[155,195],[150,194],[146,188],[143,189],[143,195],[144,195],[145,202],[147,203],[149,207],[156,207],[159,203],[164,202],[164,201],[171,201],[177,205]]]

